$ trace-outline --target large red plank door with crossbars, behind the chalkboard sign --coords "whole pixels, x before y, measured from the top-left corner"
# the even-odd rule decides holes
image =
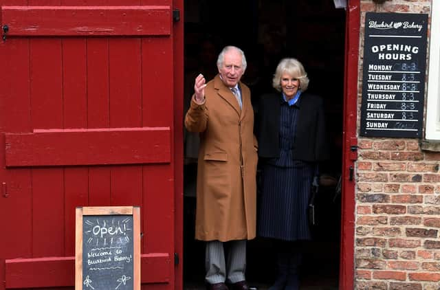
[[[0,0],[0,290],[74,285],[82,205],[140,205],[142,289],[181,288],[182,2]]]

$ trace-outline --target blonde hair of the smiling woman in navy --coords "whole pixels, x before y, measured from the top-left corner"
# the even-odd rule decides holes
[[[288,74],[294,78],[298,78],[300,85],[298,89],[305,91],[309,87],[309,78],[303,67],[303,64],[296,58],[283,58],[276,67],[274,78],[272,79],[272,87],[277,91],[281,91],[281,76]]]

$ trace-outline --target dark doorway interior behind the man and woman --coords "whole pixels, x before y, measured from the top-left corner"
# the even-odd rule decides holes
[[[325,99],[332,160],[323,174],[314,241],[307,243],[301,289],[338,289],[340,193],[344,84],[345,11],[329,0],[185,0],[185,104],[194,79],[217,74],[217,55],[225,45],[243,49],[243,76],[255,101],[272,91],[272,75],[283,57],[298,58],[310,79],[309,91]],[[256,102],[255,102],[256,103]],[[258,108],[255,108],[258,109]],[[204,244],[194,240],[197,135],[185,134],[184,289],[203,289]],[[276,269],[271,241],[248,243],[248,280],[267,289]]]

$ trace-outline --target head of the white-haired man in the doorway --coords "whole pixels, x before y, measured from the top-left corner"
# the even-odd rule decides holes
[[[235,49],[230,49],[228,52],[225,52],[223,65],[219,67],[219,74],[226,87],[235,87],[244,72],[243,63],[241,63],[241,54]]]

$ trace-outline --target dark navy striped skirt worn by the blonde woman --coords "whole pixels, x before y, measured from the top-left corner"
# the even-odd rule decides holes
[[[310,240],[307,208],[313,166],[297,162],[295,167],[265,164],[259,197],[258,235],[285,241]]]

